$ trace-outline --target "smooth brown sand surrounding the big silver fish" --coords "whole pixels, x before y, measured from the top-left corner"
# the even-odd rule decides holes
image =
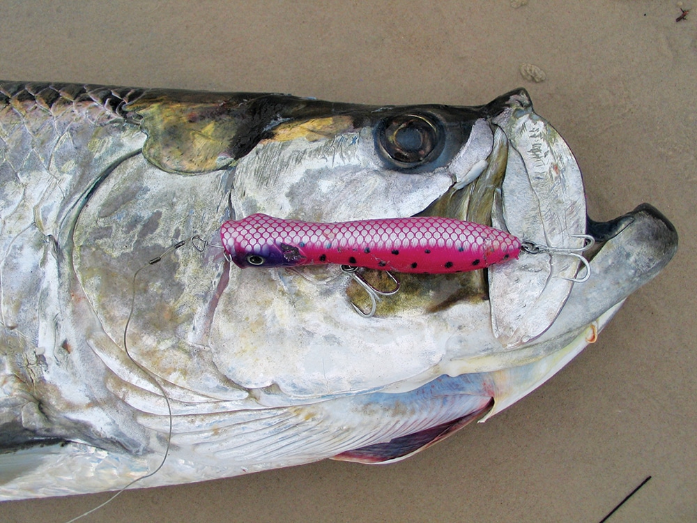
[[[649,202],[680,234],[598,342],[487,423],[391,466],[133,490],[84,521],[599,522],[648,476],[609,522],[697,521],[697,3],[680,22],[674,1],[519,3],[3,2],[3,79],[370,104],[524,86],[574,151],[592,218]],[[62,522],[107,497],[1,503],[0,521]]]

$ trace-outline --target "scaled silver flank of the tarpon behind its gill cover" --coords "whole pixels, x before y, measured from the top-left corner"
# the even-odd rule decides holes
[[[79,202],[109,166],[141,149],[144,135],[125,122],[122,108],[142,92],[0,82],[0,355],[3,375],[20,378],[6,383],[0,400],[24,398],[21,411],[34,413],[22,416],[27,430],[42,426],[36,398],[45,387],[72,383],[72,400],[79,404],[82,393],[89,402],[84,377],[71,370],[94,356],[71,355],[65,342],[75,342],[75,322],[82,320],[72,315],[75,305],[59,305],[72,285],[69,266],[61,266],[71,243],[59,236],[70,235]],[[32,395],[22,395],[27,384]],[[64,430],[54,426],[43,434],[61,437]]]

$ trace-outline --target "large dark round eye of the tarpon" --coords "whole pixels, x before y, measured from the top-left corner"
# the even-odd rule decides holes
[[[399,167],[416,167],[443,149],[443,126],[435,116],[399,114],[382,121],[379,148]]]

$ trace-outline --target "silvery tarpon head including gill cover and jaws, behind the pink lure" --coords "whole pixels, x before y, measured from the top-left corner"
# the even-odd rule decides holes
[[[128,107],[147,134],[142,157],[91,192],[73,260],[108,337],[123,338],[130,315],[138,361],[187,389],[254,390],[274,404],[533,365],[578,349],[677,246],[675,229],[648,207],[588,221],[579,165],[523,89],[477,107],[197,96]],[[359,282],[338,266],[229,264],[215,248],[220,226],[254,213],[309,222],[440,215],[547,250],[487,270],[393,275],[399,292],[365,318],[355,313],[371,307],[363,284],[394,287],[384,271],[361,271]],[[584,251],[585,234],[593,250]],[[177,250],[134,277],[146,248],[169,252],[194,236],[206,248]]]

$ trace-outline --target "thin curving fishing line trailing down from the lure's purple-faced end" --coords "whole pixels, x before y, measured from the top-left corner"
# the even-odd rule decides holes
[[[201,239],[200,236],[192,236],[192,238],[190,238],[189,241],[191,242],[194,249],[196,249],[199,252],[202,252],[202,250],[204,248],[206,248],[207,246],[213,246],[213,245],[209,245],[208,242]],[[198,243],[199,241],[203,242],[203,243]],[[101,503],[100,505],[95,506],[95,508],[88,510],[86,513],[83,513],[77,517],[72,518],[72,520],[69,520],[66,523],[73,523],[73,522],[76,522],[77,520],[82,520],[83,517],[90,515],[93,512],[96,512],[100,508],[106,506],[108,503],[111,503],[112,501],[114,501],[114,499],[116,499],[116,497],[121,495],[121,493],[124,490],[128,489],[128,487],[131,487],[132,485],[134,485],[135,483],[137,483],[140,480],[144,480],[146,478],[150,478],[151,476],[155,476],[155,474],[158,473],[160,471],[160,469],[162,469],[162,467],[164,467],[164,462],[167,461],[167,456],[169,455],[169,449],[171,446],[172,421],[173,421],[172,409],[171,409],[171,404],[169,403],[169,397],[167,396],[167,393],[164,391],[164,387],[162,386],[162,384],[160,384],[160,381],[158,381],[158,377],[153,372],[151,372],[151,370],[148,370],[146,367],[144,367],[143,365],[138,363],[135,360],[135,358],[133,358],[133,356],[130,354],[130,351],[128,350],[128,340],[126,338],[128,335],[128,326],[130,326],[130,321],[133,317],[133,310],[135,308],[135,294],[136,294],[135,282],[138,278],[139,273],[141,271],[143,271],[144,269],[157,264],[158,261],[161,261],[162,258],[167,256],[170,252],[174,252],[178,248],[183,247],[186,243],[187,243],[186,240],[178,241],[174,245],[171,245],[171,247],[167,248],[167,250],[164,250],[164,252],[162,252],[161,255],[154,257],[153,259],[148,261],[147,264],[145,264],[144,266],[141,266],[141,268],[139,268],[137,271],[135,271],[135,273],[133,274],[133,279],[131,280],[132,293],[131,293],[130,310],[128,312],[128,318],[126,319],[125,326],[123,326],[123,350],[125,351],[126,356],[128,356],[128,359],[136,367],[138,367],[142,372],[144,372],[148,381],[151,381],[152,384],[154,384],[155,386],[157,386],[157,388],[160,389],[160,392],[162,393],[162,397],[164,397],[164,401],[167,403],[167,413],[169,416],[169,430],[167,432],[167,444],[164,447],[164,455],[162,456],[162,461],[160,462],[158,467],[155,470],[153,470],[152,472],[148,472],[144,476],[140,476],[139,478],[135,478],[135,480],[132,480],[130,483],[128,483],[128,485],[125,485],[125,487],[121,487],[121,490],[118,490],[118,492],[116,492],[116,494],[114,494],[112,497],[107,499],[107,501],[105,501],[104,503]]]

